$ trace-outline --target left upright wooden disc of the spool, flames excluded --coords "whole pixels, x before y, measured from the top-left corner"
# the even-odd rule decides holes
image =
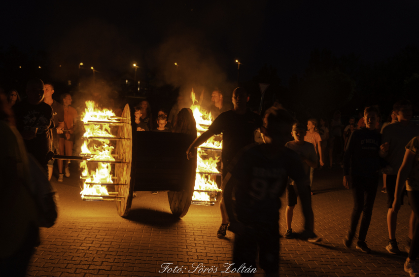
[[[116,209],[120,216],[127,216],[131,208],[134,192],[134,180],[131,180],[133,135],[131,127],[131,111],[128,104],[125,105],[120,122],[127,123],[118,127],[116,154],[117,159],[122,163],[115,164],[115,177],[118,185],[115,185],[115,192],[118,192],[121,201],[116,202]]]

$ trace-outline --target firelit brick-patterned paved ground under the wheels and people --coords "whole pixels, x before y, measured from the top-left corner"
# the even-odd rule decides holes
[[[75,163],[71,164],[76,166]],[[180,276],[234,276],[223,273],[231,263],[234,234],[218,239],[218,205],[191,206],[185,217],[174,218],[167,193],[139,193],[128,218],[119,217],[114,203],[84,202],[80,198],[78,172],[63,183],[53,184],[61,200],[61,213],[54,227],[41,230],[41,245],[32,258],[28,276],[174,276],[159,273],[163,263],[182,267]],[[280,240],[281,276],[407,276],[403,263],[407,254],[390,255],[385,250],[386,195],[377,193],[367,243],[370,254],[349,250],[342,239],[349,226],[351,192],[342,186],[342,171],[316,171],[313,209],[316,233],[323,242]],[[285,231],[281,208],[280,233]],[[398,240],[407,237],[409,207],[399,214]],[[301,230],[301,209],[294,213],[294,230]],[[403,246],[401,247],[403,248]],[[216,273],[192,273],[197,264],[216,267]],[[188,271],[190,273],[188,273]],[[257,276],[263,271],[258,270]]]

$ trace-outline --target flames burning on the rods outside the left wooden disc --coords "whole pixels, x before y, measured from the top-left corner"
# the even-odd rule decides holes
[[[85,128],[83,137],[115,137],[110,132],[109,124],[87,124],[88,121],[118,122],[112,119],[112,116],[115,116],[112,110],[99,109],[94,101],[86,101],[86,109],[82,114],[82,121],[84,122]],[[81,146],[80,155],[87,155],[95,161],[115,161],[115,158],[112,156],[113,149],[113,146],[109,146],[108,139],[86,139]],[[80,163],[80,168],[82,168],[81,178],[83,179],[83,190],[80,193],[82,199],[101,199],[101,195],[109,195],[106,186],[86,183],[112,183],[110,163],[97,163],[96,171],[89,171],[87,161],[83,161]],[[85,197],[84,195],[97,195],[98,197]]]

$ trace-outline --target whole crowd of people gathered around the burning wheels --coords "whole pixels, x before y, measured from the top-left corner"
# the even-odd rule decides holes
[[[11,151],[1,152],[2,177],[7,170],[21,170],[21,162],[16,156],[19,147],[23,149],[19,151],[27,151],[35,157],[49,179],[53,173],[53,160],[47,160],[48,152],[72,155],[78,114],[71,107],[70,94],[61,95],[61,103],[52,98],[53,94],[53,84],[39,79],[28,82],[24,100],[14,90],[7,96],[0,94],[0,127],[10,137],[5,138],[5,143],[13,139],[23,141],[23,144],[11,145],[14,147]],[[214,120],[208,130],[189,146],[186,156],[194,158],[196,147],[214,135],[223,134],[222,220],[216,235],[224,238],[227,230],[235,233],[234,263],[256,268],[256,257],[259,256],[259,265],[267,276],[279,275],[279,197],[284,191],[287,229],[283,237],[320,241],[314,232],[311,202],[313,190],[315,192],[314,171],[342,167],[343,185],[352,188],[354,200],[349,230],[343,238],[345,247],[351,247],[362,213],[355,244],[362,252],[371,251],[366,237],[379,178],[383,175],[382,191],[387,193],[389,234],[385,249],[392,254],[400,253],[396,239],[397,213],[403,205],[403,196],[407,194],[412,213],[409,242],[404,247],[409,253],[404,269],[411,276],[419,276],[415,266],[419,254],[419,125],[411,122],[412,104],[409,101],[395,103],[384,124],[381,124],[379,108],[368,106],[360,112],[357,121],[350,117],[345,126],[340,111],[335,111],[330,121],[325,117],[310,116],[305,122],[296,122],[295,116],[279,103],[268,108],[262,116],[257,110],[251,111],[247,108],[250,95],[242,87],[233,91],[232,109],[225,103],[227,101],[223,102],[223,96],[220,90],[212,92],[209,111]],[[179,96],[169,115],[160,109],[153,120],[148,101],[140,101],[134,113],[136,131],[196,134],[192,110],[184,106],[185,100]],[[6,161],[9,164],[5,165]],[[68,162],[58,160],[58,171],[58,181],[63,181],[64,175],[69,177]],[[25,187],[23,180],[8,181]],[[15,190],[22,188],[14,187]],[[16,191],[11,193],[19,195]],[[23,197],[22,193],[20,195]],[[305,218],[302,233],[292,230],[293,210],[298,198]],[[30,205],[28,202],[23,206]],[[10,268],[7,264],[15,265],[17,259],[25,261],[22,265],[29,262],[28,253],[32,253],[36,245],[38,231],[31,222],[32,217],[26,218],[26,225],[22,228],[29,231],[18,243],[25,249],[25,257],[16,254],[16,245],[14,248],[10,246],[13,255],[7,255],[11,253],[7,249],[1,251],[2,268]]]

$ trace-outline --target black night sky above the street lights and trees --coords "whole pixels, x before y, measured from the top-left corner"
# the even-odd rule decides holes
[[[0,46],[45,50],[56,63],[129,72],[212,63],[235,80],[264,64],[282,83],[304,73],[310,52],[354,52],[371,63],[419,46],[419,2],[399,1],[2,1]],[[176,45],[175,47],[173,45]],[[194,61],[182,50],[191,47]],[[166,54],[161,52],[166,51]],[[174,53],[168,54],[172,51]],[[176,53],[178,55],[176,56]],[[173,66],[174,67],[174,66]]]

